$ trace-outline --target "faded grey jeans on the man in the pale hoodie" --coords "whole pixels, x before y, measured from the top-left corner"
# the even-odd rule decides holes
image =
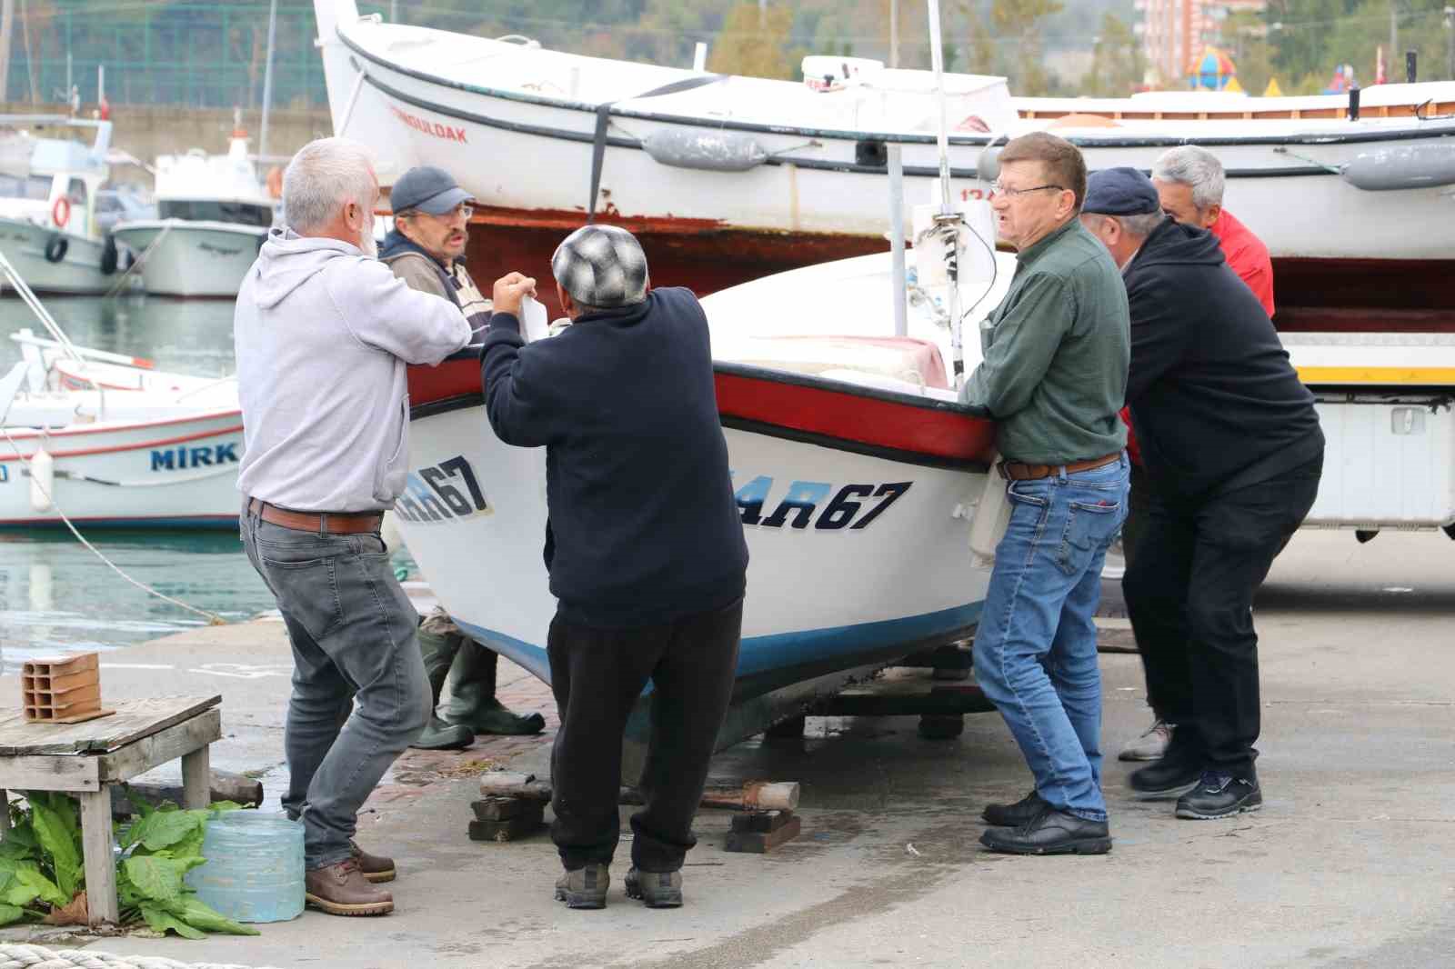
[[[349,857],[359,806],[429,722],[419,617],[378,533],[298,531],[244,508],[242,534],[292,642],[282,806],[303,818],[306,866],[335,864]]]

